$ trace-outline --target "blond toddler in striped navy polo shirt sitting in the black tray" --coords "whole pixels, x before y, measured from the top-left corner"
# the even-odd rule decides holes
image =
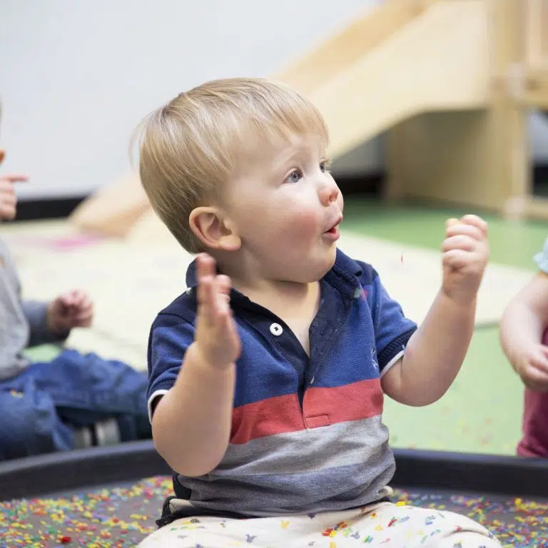
[[[487,225],[447,223],[417,329],[375,269],[337,249],[327,147],[315,107],[261,79],[205,83],[143,123],[143,187],[201,253],[151,329],[153,438],[176,498],[144,547],[499,546],[466,517],[390,502],[381,419],[384,394],[427,405],[457,375]]]

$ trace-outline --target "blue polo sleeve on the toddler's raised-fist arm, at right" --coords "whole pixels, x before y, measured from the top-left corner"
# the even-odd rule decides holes
[[[371,311],[377,361],[383,375],[403,355],[417,324],[405,318],[400,303],[390,298],[376,272],[372,279]]]

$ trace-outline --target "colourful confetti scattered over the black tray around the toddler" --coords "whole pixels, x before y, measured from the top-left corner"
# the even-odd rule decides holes
[[[133,548],[156,529],[171,477],[51,499],[0,502],[0,548]],[[548,548],[548,500],[397,491],[397,504],[465,514],[504,547]],[[330,536],[330,535],[328,535]]]

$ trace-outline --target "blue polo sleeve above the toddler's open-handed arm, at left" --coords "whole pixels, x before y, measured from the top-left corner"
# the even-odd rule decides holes
[[[159,398],[173,387],[186,350],[194,340],[194,326],[177,315],[161,314],[148,340],[148,416],[152,420]]]

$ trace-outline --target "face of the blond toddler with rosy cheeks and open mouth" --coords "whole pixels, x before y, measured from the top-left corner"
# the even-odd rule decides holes
[[[319,280],[335,262],[342,220],[323,142],[293,135],[247,156],[228,193],[245,260],[266,279]]]

